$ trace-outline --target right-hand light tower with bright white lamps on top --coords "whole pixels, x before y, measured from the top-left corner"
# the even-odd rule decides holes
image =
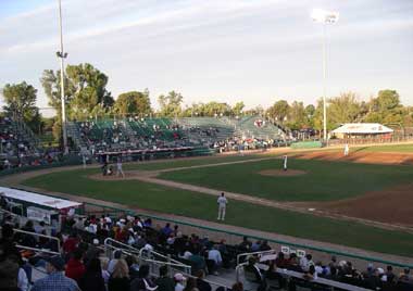
[[[326,25],[335,24],[338,21],[339,13],[333,11],[325,11],[322,9],[314,9],[311,12],[311,17],[314,22],[323,24],[323,128],[324,140],[327,141],[327,60],[326,60]]]

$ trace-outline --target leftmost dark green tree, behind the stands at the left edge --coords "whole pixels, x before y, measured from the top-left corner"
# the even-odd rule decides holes
[[[37,89],[26,81],[7,84],[3,88],[3,110],[16,121],[26,123],[38,132],[41,129],[41,115],[36,106]]]

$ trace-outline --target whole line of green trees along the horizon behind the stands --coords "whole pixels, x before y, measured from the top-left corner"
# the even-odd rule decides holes
[[[36,106],[37,89],[22,81],[7,84],[3,88],[4,114],[25,122],[36,134],[52,130],[57,140],[61,136],[61,77],[60,71],[45,69],[40,78],[49,105],[57,112],[55,117],[45,118]],[[176,91],[158,97],[159,110],[152,107],[149,90],[121,93],[114,99],[107,89],[109,77],[84,63],[67,65],[64,93],[66,115],[70,121],[86,121],[104,116],[233,116],[261,115],[263,118],[290,129],[323,127],[323,100],[315,104],[280,99],[267,109],[256,106],[245,110],[242,101],[235,105],[211,101],[184,106],[184,97]],[[334,129],[343,123],[380,123],[413,126],[413,107],[403,106],[396,90],[380,90],[376,97],[362,101],[351,91],[327,100],[327,128]]]

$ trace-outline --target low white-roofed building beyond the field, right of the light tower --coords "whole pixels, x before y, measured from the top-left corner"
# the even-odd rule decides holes
[[[338,139],[391,139],[393,129],[381,124],[360,123],[343,124],[331,131],[331,137]]]

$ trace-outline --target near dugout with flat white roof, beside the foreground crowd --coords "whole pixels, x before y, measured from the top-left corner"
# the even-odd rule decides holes
[[[61,228],[67,215],[82,214],[83,203],[48,197],[20,189],[0,187],[7,210],[34,222],[45,222],[48,226]]]

